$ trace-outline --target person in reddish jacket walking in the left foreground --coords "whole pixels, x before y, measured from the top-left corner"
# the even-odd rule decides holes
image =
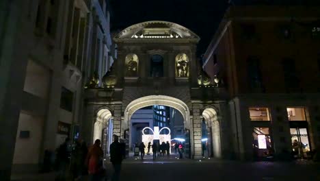
[[[92,181],[101,180],[103,171],[103,149],[100,147],[101,140],[96,139],[89,149],[86,162],[88,163],[89,178]]]

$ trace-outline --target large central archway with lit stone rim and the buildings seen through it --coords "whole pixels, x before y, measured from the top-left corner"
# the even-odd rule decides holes
[[[149,119],[144,119],[140,115],[148,114]],[[174,126],[170,123],[176,121]],[[142,97],[132,101],[124,111],[124,130],[129,129],[129,150],[134,151],[135,143],[142,141],[142,130],[146,127],[150,127],[154,130],[154,126],[159,127],[159,130],[164,127],[170,127],[171,136],[173,138],[183,137],[185,140],[185,158],[191,157],[191,145],[190,143],[190,126],[189,123],[189,108],[187,105],[174,97],[168,97],[164,95],[151,95]],[[152,131],[146,130],[145,134]],[[160,134],[168,134],[168,131],[161,132]],[[172,144],[176,142],[172,141]],[[171,145],[173,146],[173,145]],[[147,145],[146,145],[147,147]],[[171,147],[174,152],[174,147]]]

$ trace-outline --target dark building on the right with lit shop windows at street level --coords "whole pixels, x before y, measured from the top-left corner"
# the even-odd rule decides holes
[[[215,32],[203,69],[230,95],[237,157],[306,158],[319,148],[317,8],[231,6]]]

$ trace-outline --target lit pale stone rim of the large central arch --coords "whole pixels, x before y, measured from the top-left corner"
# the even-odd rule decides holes
[[[162,105],[162,106],[169,106],[175,108],[183,115],[183,123],[185,129],[192,130],[192,123],[190,123],[190,110],[185,102],[181,101],[180,99],[176,99],[174,97],[166,96],[166,95],[149,95],[146,97],[141,97],[131,101],[126,109],[124,110],[124,126],[122,127],[122,132],[130,128],[131,123],[131,116],[136,110],[140,108],[144,108],[147,106],[153,105]],[[131,130],[129,130],[129,134],[131,135]],[[191,132],[192,134],[192,132]],[[193,135],[190,135],[191,138]],[[190,141],[191,144],[191,152],[193,152],[193,141]],[[129,138],[129,145],[131,146],[131,136]]]

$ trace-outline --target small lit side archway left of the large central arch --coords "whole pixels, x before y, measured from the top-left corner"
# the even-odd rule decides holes
[[[112,142],[113,123],[111,112],[107,109],[101,109],[96,114],[94,123],[93,142],[96,139],[101,140],[101,148],[105,154],[109,154],[109,145]]]

